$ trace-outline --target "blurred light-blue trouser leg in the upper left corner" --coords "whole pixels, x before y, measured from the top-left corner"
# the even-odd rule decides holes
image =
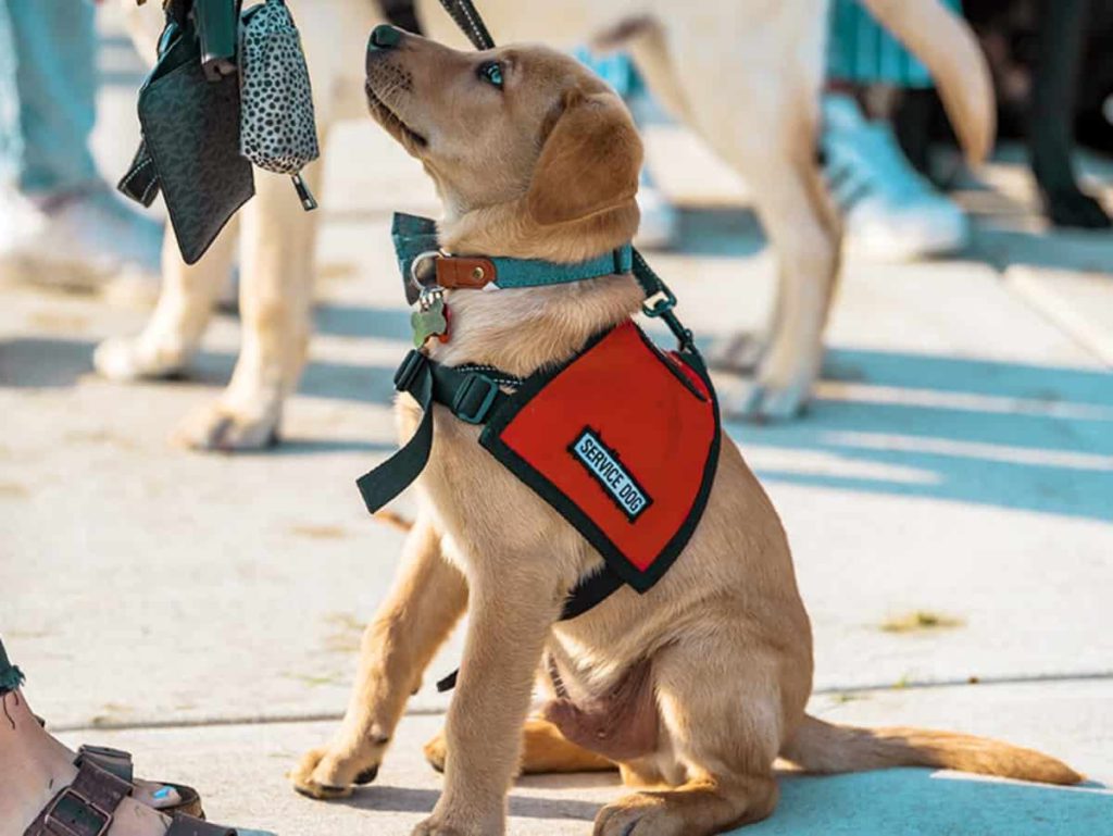
[[[92,181],[96,92],[89,0],[0,0],[0,184],[33,196]]]

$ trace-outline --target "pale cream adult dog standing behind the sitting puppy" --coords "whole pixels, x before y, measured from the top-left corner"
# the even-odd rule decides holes
[[[158,3],[120,0],[147,55],[161,24]],[[968,28],[937,0],[864,0],[932,69],[967,155],[981,159],[994,134],[988,71]],[[462,40],[437,0],[416,0],[423,24]],[[363,33],[382,22],[375,0],[289,0],[313,76],[322,139],[362,112]],[[764,338],[736,341],[727,363],[757,362],[729,412],[792,415],[823,360],[823,333],[838,273],[838,229],[816,165],[827,0],[482,0],[495,40],[623,46],[653,94],[752,187],[776,248],[778,294]],[[308,179],[319,194],[321,166]],[[165,249],[164,288],[144,332],[100,346],[96,366],[117,381],[181,372],[196,354],[214,299],[228,281],[237,239],[244,341],[232,382],[189,416],[178,439],[205,450],[268,444],[297,386],[311,335],[317,214],[302,212],[288,179],[256,173],[257,197],[197,265]],[[327,197],[324,196],[327,205]],[[237,233],[238,230],[242,230]],[[746,351],[741,347],[748,345]],[[754,346],[760,351],[752,351]]]

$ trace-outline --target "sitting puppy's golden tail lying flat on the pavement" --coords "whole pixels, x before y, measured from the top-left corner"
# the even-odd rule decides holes
[[[781,757],[810,773],[855,773],[933,766],[1044,784],[1077,784],[1082,776],[1055,758],[998,740],[949,731],[835,726],[805,716]]]

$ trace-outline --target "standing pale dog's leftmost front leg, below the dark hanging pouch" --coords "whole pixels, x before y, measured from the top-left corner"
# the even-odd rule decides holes
[[[92,362],[101,375],[131,382],[171,377],[186,370],[232,273],[237,229],[233,218],[205,257],[190,266],[181,260],[174,232],[167,228],[155,313],[139,336],[111,337],[97,347]]]

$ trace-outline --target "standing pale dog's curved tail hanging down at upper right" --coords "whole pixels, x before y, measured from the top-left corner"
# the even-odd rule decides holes
[[[997,116],[989,67],[966,21],[938,0],[865,0],[870,12],[930,70],[966,158],[993,148]]]

